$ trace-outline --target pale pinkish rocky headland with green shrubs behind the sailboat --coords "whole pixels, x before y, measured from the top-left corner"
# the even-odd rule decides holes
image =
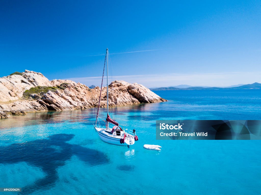
[[[107,106],[107,87],[102,88],[101,106]],[[43,74],[25,70],[0,78],[0,118],[35,111],[61,111],[97,107],[100,87],[90,89],[71,80],[48,80]],[[137,83],[115,80],[109,85],[109,106],[165,102]]]

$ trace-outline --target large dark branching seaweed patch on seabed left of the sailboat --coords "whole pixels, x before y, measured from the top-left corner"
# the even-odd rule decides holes
[[[55,134],[49,136],[48,139],[0,147],[0,163],[26,162],[29,165],[40,167],[45,173],[44,178],[35,181],[32,185],[23,187],[19,194],[30,194],[33,191],[46,190],[54,186],[58,179],[57,168],[65,165],[66,161],[70,160],[73,155],[91,166],[109,163],[108,157],[98,150],[66,143],[74,136],[73,134]],[[57,150],[57,148],[59,149]]]

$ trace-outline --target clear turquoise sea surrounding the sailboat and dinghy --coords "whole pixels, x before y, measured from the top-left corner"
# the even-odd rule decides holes
[[[0,187],[41,195],[261,194],[261,141],[155,136],[157,119],[260,120],[261,90],[155,93],[169,101],[111,108],[121,126],[136,129],[129,149],[99,139],[96,108],[1,120]]]

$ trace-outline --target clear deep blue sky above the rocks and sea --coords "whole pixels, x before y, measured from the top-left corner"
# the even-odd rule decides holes
[[[25,69],[148,87],[261,83],[260,1],[1,1],[0,77]]]

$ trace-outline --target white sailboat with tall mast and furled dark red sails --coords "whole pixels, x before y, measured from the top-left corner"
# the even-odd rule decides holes
[[[103,76],[105,70],[105,62],[107,62],[107,118],[105,122],[105,127],[101,127],[101,125],[97,123],[98,115],[99,115],[99,108],[100,108],[100,99],[102,95],[102,85],[100,88],[100,97],[97,109],[97,116],[96,122],[94,125],[95,131],[98,133],[100,139],[106,143],[117,145],[117,146],[129,146],[133,145],[135,141],[138,141],[138,136],[136,135],[135,129],[133,129],[132,133],[125,132],[124,128],[122,129],[115,120],[113,120],[109,115],[109,88],[108,88],[108,61],[109,61],[109,50],[106,49],[105,61],[104,61],[104,68],[103,68]],[[102,76],[102,83],[103,83],[103,76]],[[126,129],[127,130],[127,129]]]

